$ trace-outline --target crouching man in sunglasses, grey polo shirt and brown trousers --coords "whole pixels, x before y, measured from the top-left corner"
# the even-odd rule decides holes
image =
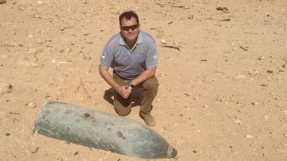
[[[123,12],[119,23],[121,32],[105,45],[99,73],[114,88],[113,105],[120,116],[131,112],[133,87],[142,88],[139,115],[146,125],[155,126],[155,119],[150,114],[159,86],[155,77],[158,65],[155,40],[150,34],[140,31],[139,19],[134,11]],[[109,67],[113,68],[113,76],[108,72]]]

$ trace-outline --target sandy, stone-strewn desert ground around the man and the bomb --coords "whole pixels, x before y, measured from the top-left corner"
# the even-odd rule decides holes
[[[178,151],[162,160],[287,160],[285,0],[7,0],[0,4],[1,161],[143,160],[30,131],[48,100],[116,114],[98,66],[119,14],[131,9],[157,42],[151,128]],[[127,117],[144,123],[140,99],[133,95]]]

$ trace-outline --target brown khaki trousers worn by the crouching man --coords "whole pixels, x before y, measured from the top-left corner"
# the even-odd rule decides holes
[[[113,72],[113,79],[120,85],[127,85],[128,79],[121,78],[118,74]],[[138,84],[136,87],[143,89],[143,97],[141,101],[140,115],[145,116],[150,114],[151,103],[155,99],[158,90],[158,80],[155,76],[147,79],[145,82]],[[127,116],[132,109],[131,104],[131,95],[124,99],[120,94],[117,93],[116,89],[114,90],[114,109],[120,116]]]

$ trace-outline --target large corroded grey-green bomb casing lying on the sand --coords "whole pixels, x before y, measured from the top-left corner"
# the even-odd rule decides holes
[[[172,158],[177,151],[150,127],[105,112],[47,101],[36,120],[39,134],[143,159]]]

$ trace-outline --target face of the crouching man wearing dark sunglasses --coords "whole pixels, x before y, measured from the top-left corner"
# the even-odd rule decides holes
[[[132,26],[132,25],[137,25],[137,19],[132,17],[130,20],[127,20],[125,17],[122,19],[122,26]],[[124,38],[127,41],[137,41],[137,35],[138,32],[140,31],[140,25],[138,25],[137,28],[135,29],[122,29],[121,28],[121,33],[123,34]]]

